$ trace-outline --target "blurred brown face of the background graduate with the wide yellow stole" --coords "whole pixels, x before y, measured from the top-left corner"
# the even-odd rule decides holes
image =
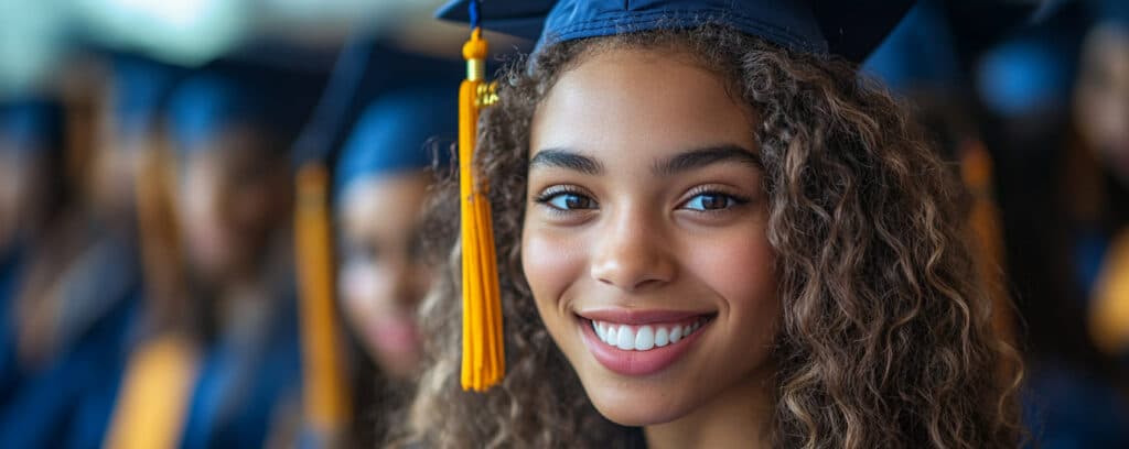
[[[279,222],[290,186],[282,158],[250,132],[231,132],[182,158],[178,194],[184,249],[193,271],[222,282],[253,272]]]

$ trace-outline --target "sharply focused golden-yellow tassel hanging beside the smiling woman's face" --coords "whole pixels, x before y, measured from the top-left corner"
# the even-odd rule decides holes
[[[466,79],[458,93],[458,177],[463,241],[463,370],[464,390],[484,391],[506,372],[501,296],[493,224],[484,186],[472,167],[479,107],[491,103],[485,83],[487,41],[474,28],[463,45]]]

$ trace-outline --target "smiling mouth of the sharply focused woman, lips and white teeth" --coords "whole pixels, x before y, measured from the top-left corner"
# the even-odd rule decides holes
[[[579,314],[585,345],[604,368],[623,376],[665,370],[688,353],[712,314],[598,310]]]

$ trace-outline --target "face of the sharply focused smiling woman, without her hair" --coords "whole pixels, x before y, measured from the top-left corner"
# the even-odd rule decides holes
[[[763,393],[780,306],[754,120],[717,76],[633,50],[585,59],[534,115],[523,267],[614,422]]]

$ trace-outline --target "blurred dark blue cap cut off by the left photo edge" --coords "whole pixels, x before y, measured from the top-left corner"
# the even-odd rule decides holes
[[[62,151],[63,107],[49,98],[0,103],[0,151],[17,155]]]

